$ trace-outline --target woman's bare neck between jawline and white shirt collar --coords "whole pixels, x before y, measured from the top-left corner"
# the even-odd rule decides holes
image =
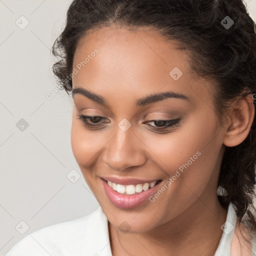
[[[176,218],[144,233],[123,233],[109,223],[112,254],[213,256],[226,214],[216,196],[196,199]]]

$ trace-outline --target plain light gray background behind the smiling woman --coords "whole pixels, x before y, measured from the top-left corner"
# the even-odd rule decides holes
[[[98,207],[72,154],[72,99],[46,97],[56,88],[50,48],[70,2],[0,0],[0,255],[32,231]],[[256,0],[245,2],[256,20]]]

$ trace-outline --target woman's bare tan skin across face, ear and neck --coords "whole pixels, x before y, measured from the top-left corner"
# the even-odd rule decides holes
[[[73,95],[71,145],[109,220],[113,256],[214,255],[222,234],[227,208],[216,195],[220,163],[224,147],[241,143],[249,132],[252,98],[234,100],[220,124],[213,106],[214,83],[197,77],[188,55],[177,46],[152,29],[131,31],[112,25],[90,30],[76,47],[73,67],[94,48],[99,50],[72,82],[73,88],[104,97],[107,105]],[[183,73],[178,80],[169,75],[175,66]],[[165,98],[135,105],[138,98],[163,91],[182,93],[188,100]],[[94,120],[103,124],[90,129],[77,114],[106,119]],[[123,118],[131,124],[125,132],[118,126]],[[181,120],[175,127],[157,131],[151,120],[159,118]],[[103,175],[166,183],[196,151],[201,155],[154,202],[122,209],[104,192]],[[127,233],[119,228],[123,221],[130,226]]]

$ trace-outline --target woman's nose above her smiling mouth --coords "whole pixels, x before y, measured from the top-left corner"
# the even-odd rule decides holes
[[[112,170],[123,171],[128,167],[143,165],[146,161],[145,145],[132,128],[121,130],[118,126],[115,135],[102,151],[102,160]]]

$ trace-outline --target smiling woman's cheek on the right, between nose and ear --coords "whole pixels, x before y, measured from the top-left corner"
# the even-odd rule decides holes
[[[208,184],[222,145],[216,124],[214,116],[205,114],[200,119],[187,119],[186,124],[169,134],[144,137],[153,153],[150,157],[172,178],[176,188],[185,184],[200,194]]]

